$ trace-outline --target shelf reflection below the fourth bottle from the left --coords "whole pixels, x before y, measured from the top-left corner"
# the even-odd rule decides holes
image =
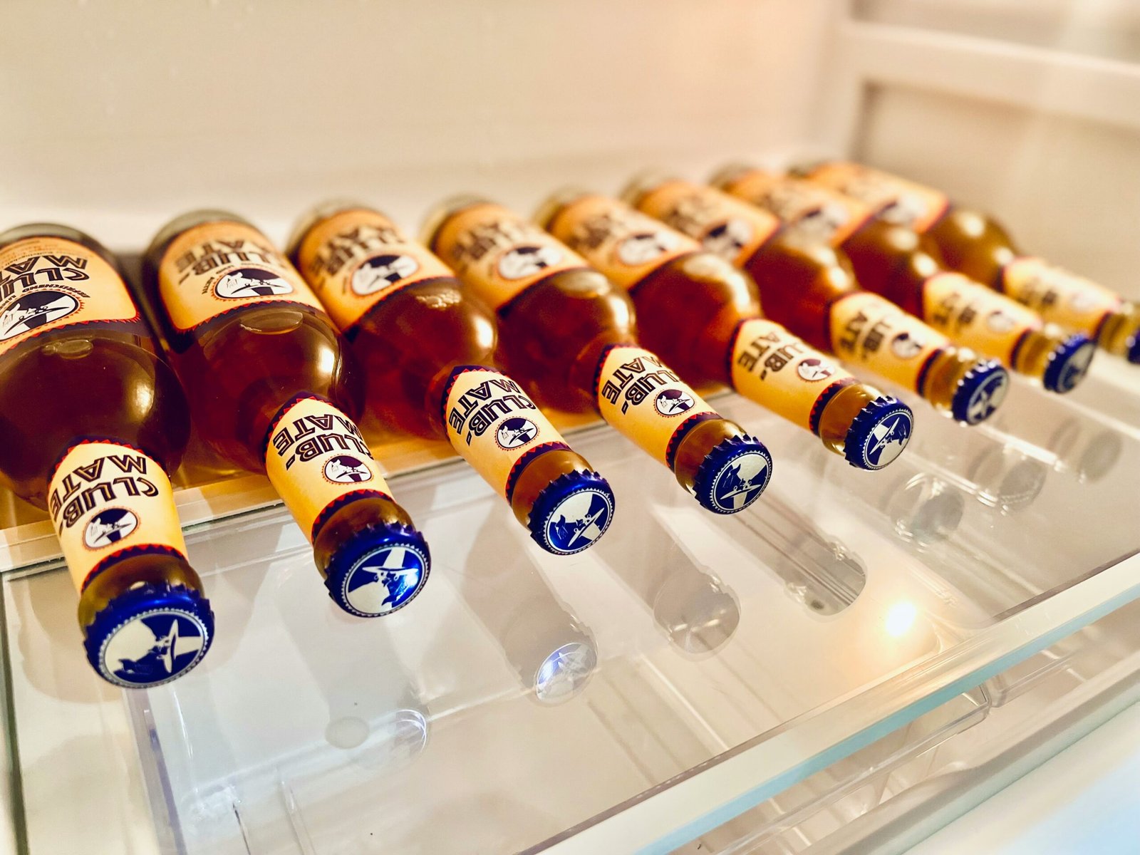
[[[622,513],[626,530],[612,543],[600,545],[602,559],[649,606],[653,621],[675,648],[703,656],[724,646],[740,624],[740,605],[732,589],[697,567],[644,505]],[[736,514],[736,519],[742,515]]]

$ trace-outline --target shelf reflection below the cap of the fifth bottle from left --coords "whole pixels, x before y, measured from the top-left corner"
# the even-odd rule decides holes
[[[776,498],[765,503],[763,515],[742,516],[740,524],[757,538],[754,553],[813,613],[838,614],[863,592],[862,559],[817,529],[811,518]]]

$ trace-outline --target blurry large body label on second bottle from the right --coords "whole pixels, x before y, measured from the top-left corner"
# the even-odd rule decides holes
[[[872,211],[858,199],[790,176],[749,170],[725,192],[771,211],[796,234],[838,246],[855,234]]]

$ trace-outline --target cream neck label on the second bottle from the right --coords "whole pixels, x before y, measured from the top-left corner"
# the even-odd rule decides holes
[[[961,274],[935,274],[922,283],[922,315],[950,339],[1012,364],[1013,351],[1041,318],[1008,296]]]

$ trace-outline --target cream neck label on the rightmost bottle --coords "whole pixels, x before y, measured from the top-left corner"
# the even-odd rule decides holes
[[[1092,279],[1036,258],[1011,261],[1002,270],[1002,291],[1066,329],[1097,336],[1121,298]]]

